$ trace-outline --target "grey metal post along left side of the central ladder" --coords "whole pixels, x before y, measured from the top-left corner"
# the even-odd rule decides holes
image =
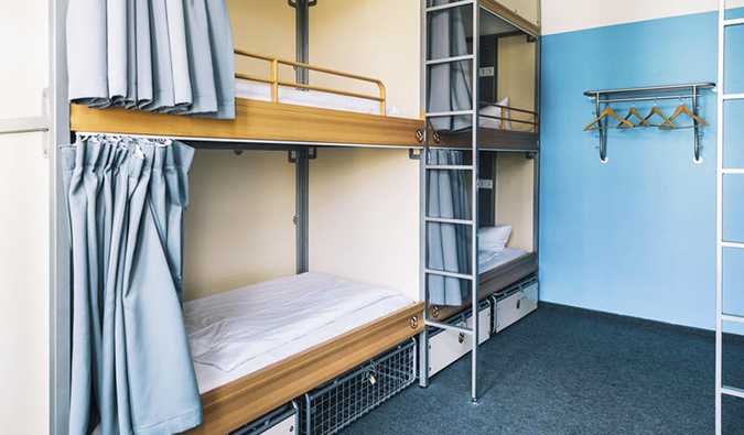
[[[421,0],[421,110],[427,110],[427,58],[429,53],[429,35],[427,20],[427,0]],[[429,128],[424,116],[423,128],[423,150],[419,159],[419,216],[427,216],[427,161],[429,160]],[[429,316],[429,295],[427,287],[427,222],[423,218],[419,220],[419,297],[424,301],[424,318]],[[429,387],[429,327],[423,326],[423,331],[419,334],[419,387]]]

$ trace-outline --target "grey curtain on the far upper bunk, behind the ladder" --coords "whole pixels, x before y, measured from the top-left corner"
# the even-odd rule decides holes
[[[440,6],[450,0],[429,0],[428,4]],[[467,54],[465,23],[462,8],[429,13],[430,59]],[[427,111],[441,112],[470,110],[472,106],[471,63],[455,62],[429,66],[429,107]],[[435,130],[455,131],[472,127],[471,117],[432,118]]]

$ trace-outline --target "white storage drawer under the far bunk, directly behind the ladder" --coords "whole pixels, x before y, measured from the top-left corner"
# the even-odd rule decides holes
[[[478,312],[478,341],[484,342],[490,337],[490,303],[484,301]],[[460,315],[457,315],[460,318]],[[462,322],[448,320],[455,325],[462,325]],[[466,315],[466,325],[473,327],[473,316],[468,311]],[[462,356],[470,354],[472,346],[471,337],[454,330],[440,329],[429,338],[429,376],[433,376],[443,368],[450,366]]]

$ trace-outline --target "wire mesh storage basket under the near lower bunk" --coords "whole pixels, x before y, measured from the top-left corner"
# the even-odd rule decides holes
[[[416,382],[416,339],[371,358],[305,393],[300,427],[304,435],[331,435]]]

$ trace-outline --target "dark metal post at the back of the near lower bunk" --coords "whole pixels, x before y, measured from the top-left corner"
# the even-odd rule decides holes
[[[310,268],[309,254],[309,194],[310,194],[310,153],[306,146],[299,146],[295,151],[295,235],[296,235],[296,272],[308,272]]]

